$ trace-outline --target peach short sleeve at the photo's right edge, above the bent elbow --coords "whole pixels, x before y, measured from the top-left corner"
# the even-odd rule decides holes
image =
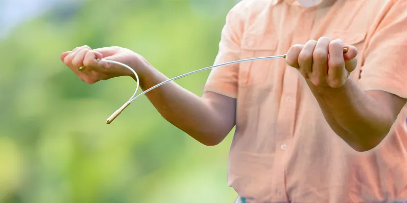
[[[407,1],[393,2],[368,42],[359,86],[407,98]]]

